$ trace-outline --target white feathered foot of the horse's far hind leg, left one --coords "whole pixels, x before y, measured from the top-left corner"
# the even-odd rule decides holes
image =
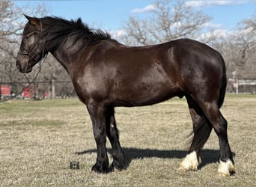
[[[179,171],[197,171],[198,170],[198,157],[196,152],[189,153],[183,162],[180,163]]]

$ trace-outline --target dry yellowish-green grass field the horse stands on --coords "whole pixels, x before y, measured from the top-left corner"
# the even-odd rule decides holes
[[[214,132],[198,171],[177,168],[188,148],[192,122],[185,99],[140,108],[116,108],[129,168],[95,174],[96,144],[85,105],[78,99],[0,103],[1,186],[256,186],[256,96],[227,96],[222,114],[235,154],[236,174],[217,177]],[[108,141],[109,160],[112,162]],[[77,155],[76,152],[82,154]],[[70,170],[70,161],[79,170]]]

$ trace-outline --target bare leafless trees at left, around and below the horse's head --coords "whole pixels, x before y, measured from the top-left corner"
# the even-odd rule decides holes
[[[46,89],[51,90],[51,83],[58,81],[70,81],[66,71],[56,63],[52,55],[44,60],[43,68],[36,65],[34,70],[23,75],[16,70],[16,54],[19,49],[21,41],[22,30],[27,20],[22,15],[23,13],[30,16],[42,17],[48,13],[45,5],[40,4],[37,7],[17,7],[13,1],[3,0],[0,1],[0,83],[8,82],[13,88],[13,93],[22,91],[21,85],[14,85],[13,82],[27,82],[31,83],[37,78],[35,85],[38,90]],[[26,84],[27,85],[27,84]],[[56,86],[56,93],[59,95],[70,95],[73,93],[73,85],[64,83],[63,85]]]

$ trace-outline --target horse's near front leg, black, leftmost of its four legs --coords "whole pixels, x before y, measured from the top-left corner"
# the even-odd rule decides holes
[[[97,144],[97,161],[91,170],[106,174],[109,172],[109,158],[106,151],[106,108],[97,104],[87,105],[87,108]]]

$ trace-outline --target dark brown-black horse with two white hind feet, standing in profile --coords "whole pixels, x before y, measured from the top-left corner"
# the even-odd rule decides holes
[[[180,170],[197,170],[201,148],[214,129],[220,147],[217,172],[224,176],[234,172],[227,121],[219,111],[226,88],[225,62],[219,52],[189,39],[124,46],[105,31],[88,28],[81,19],[25,17],[28,23],[16,67],[21,73],[29,73],[51,52],[67,70],[91,117],[97,144],[93,171],[107,173],[113,167],[127,168],[118,138],[116,106],[152,105],[173,96],[186,96],[194,137]],[[113,148],[110,168],[106,136]]]

